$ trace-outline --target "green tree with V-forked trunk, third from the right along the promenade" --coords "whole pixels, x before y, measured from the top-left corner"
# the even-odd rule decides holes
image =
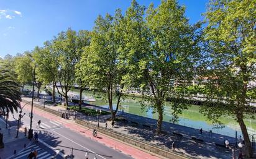
[[[119,108],[124,84],[122,83],[122,59],[119,58],[121,37],[115,29],[122,19],[121,11],[117,10],[115,17],[106,14],[99,15],[91,34],[91,44],[85,48],[85,53],[80,62],[83,69],[83,80],[89,82],[91,88],[106,92],[112,120]],[[118,28],[118,27],[117,27]],[[112,100],[117,96],[116,110],[113,110]]]

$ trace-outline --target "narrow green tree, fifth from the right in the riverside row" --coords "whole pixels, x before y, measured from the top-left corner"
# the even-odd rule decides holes
[[[68,106],[68,92],[75,82],[76,64],[76,32],[70,28],[61,32],[53,40],[53,54],[57,57],[55,69],[57,69],[56,82],[58,93],[65,98],[65,105]]]

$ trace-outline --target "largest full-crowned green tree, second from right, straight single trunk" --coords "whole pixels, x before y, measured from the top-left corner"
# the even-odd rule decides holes
[[[135,1],[127,11],[127,27],[132,28],[132,32],[128,32],[126,49],[134,59],[131,69],[139,70],[137,79],[146,101],[142,106],[158,113],[157,132],[160,133],[165,101],[183,98],[181,90],[193,79],[194,62],[199,53],[195,36],[199,25],[188,24],[185,7],[178,6],[174,0],[162,1],[156,9],[150,4],[145,20],[144,11],[145,7]],[[173,115],[178,118],[177,114],[186,105],[171,104]]]

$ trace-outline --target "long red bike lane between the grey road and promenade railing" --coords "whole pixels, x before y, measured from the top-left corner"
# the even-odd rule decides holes
[[[25,103],[21,102],[21,104],[24,105]],[[24,107],[24,109],[26,110],[30,110],[30,108],[31,108],[30,105],[27,105]],[[130,155],[133,158],[137,158],[137,159],[145,159],[145,158],[158,159],[159,158],[155,155],[139,150],[138,148],[124,144],[123,142],[111,139],[110,137],[107,137],[106,135],[103,135],[103,134],[98,133],[98,137],[93,137],[93,130],[80,126],[76,124],[74,121],[63,119],[63,118],[60,118],[59,116],[55,116],[54,114],[50,114],[50,113],[47,113],[46,111],[37,109],[36,107],[34,107],[33,113],[39,116],[43,116],[43,118],[50,119],[51,121],[58,121],[62,123],[63,127],[71,129],[72,131],[80,133],[81,135],[85,135],[85,137],[89,137],[101,144],[106,145],[107,147],[114,148],[117,151],[121,151],[122,153]]]

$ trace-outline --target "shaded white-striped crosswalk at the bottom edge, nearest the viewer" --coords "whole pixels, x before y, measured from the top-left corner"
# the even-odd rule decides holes
[[[53,152],[47,152],[43,148],[40,148],[39,145],[32,144],[29,147],[25,148],[25,150],[23,150],[22,152],[18,153],[14,157],[12,157],[11,159],[26,159],[26,158],[28,158],[29,153],[34,152],[34,150],[37,151],[37,154],[38,154],[37,159],[52,159],[52,158],[55,158],[54,157],[55,154]]]

